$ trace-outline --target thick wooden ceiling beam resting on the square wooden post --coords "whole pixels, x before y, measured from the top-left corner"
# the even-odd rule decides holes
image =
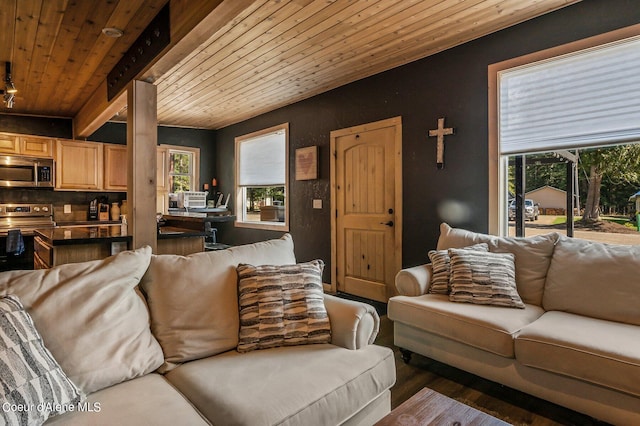
[[[171,43],[136,80],[153,82],[190,55],[211,34],[250,6],[251,0],[170,0]],[[73,119],[75,138],[86,138],[126,106],[126,90],[107,101],[106,80]]]

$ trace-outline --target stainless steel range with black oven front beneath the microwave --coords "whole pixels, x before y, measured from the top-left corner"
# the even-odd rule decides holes
[[[33,269],[33,231],[53,228],[51,204],[0,204],[0,271]],[[7,253],[7,233],[19,229],[24,240],[24,252]]]

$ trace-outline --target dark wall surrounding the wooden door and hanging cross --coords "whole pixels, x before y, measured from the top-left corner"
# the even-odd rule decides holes
[[[640,22],[636,0],[585,0],[537,19],[483,37],[426,59],[375,75],[221,129],[217,134],[218,180],[233,192],[234,138],[279,123],[290,125],[291,155],[296,148],[320,147],[320,178],[290,181],[290,232],[299,261],[321,258],[331,265],[329,133],[390,117],[402,117],[403,264],[427,261],[439,225],[488,230],[488,93],[490,64],[569,43]],[[436,169],[435,138],[427,138],[439,117],[455,134],[445,142],[445,167]],[[289,161],[293,176],[293,156]],[[323,200],[322,210],[312,199]],[[456,219],[453,202],[467,214]],[[226,243],[272,238],[276,232],[227,226]]]

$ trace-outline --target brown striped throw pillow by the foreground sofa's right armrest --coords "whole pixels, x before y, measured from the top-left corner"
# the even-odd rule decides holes
[[[322,260],[284,266],[238,265],[238,352],[329,343],[323,269]]]

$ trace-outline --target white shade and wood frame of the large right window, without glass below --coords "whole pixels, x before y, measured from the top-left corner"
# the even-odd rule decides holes
[[[552,54],[539,52],[490,67],[496,94],[490,139],[499,158],[493,199],[499,201],[501,233],[506,232],[507,170],[514,155],[529,164],[529,157],[544,153],[575,154],[640,141],[640,36],[629,35],[611,33],[599,42],[587,39],[551,49]],[[533,189],[526,185],[527,191]]]

